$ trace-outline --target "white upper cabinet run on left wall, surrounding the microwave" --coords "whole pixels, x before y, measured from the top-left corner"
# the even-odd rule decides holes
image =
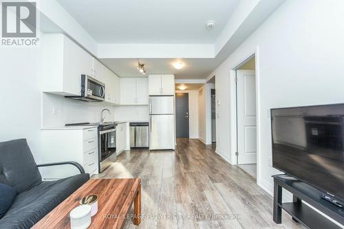
[[[81,75],[105,83],[105,102],[120,104],[120,78],[63,34],[44,34],[42,88],[63,96],[80,96]]]

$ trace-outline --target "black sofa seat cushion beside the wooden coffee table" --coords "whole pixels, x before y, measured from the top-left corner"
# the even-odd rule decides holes
[[[17,195],[6,215],[0,219],[0,228],[31,228],[88,179],[88,174],[79,174],[54,182],[42,182]]]

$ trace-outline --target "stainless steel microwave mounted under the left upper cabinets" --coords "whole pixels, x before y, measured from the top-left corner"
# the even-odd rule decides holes
[[[91,76],[81,75],[81,95],[65,97],[86,102],[102,102],[105,100],[105,84]]]

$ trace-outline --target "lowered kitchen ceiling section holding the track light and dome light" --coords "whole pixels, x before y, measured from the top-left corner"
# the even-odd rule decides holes
[[[143,77],[138,72],[138,59],[136,58],[109,58],[100,59],[109,69],[120,77]],[[140,58],[148,74],[175,74],[177,79],[204,79],[217,66],[215,58]],[[182,61],[185,66],[182,69],[175,69],[173,63]]]

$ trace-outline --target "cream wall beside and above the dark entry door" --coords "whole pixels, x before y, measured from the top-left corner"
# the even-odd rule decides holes
[[[198,91],[185,90],[175,93],[189,94],[189,138],[198,138]]]

